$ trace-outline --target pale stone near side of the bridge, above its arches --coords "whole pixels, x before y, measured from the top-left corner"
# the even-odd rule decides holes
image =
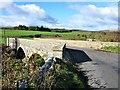
[[[62,48],[65,43],[56,43],[28,39],[18,39],[18,46],[21,47],[25,53],[25,58],[30,58],[33,53],[40,54],[44,59],[47,59],[51,56],[62,59]],[[9,46],[13,48],[14,38],[9,39]]]

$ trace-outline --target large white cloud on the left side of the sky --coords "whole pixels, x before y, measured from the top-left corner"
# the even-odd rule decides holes
[[[6,8],[9,16],[1,17],[2,25],[39,25],[56,24],[57,20],[51,17],[44,9],[35,4],[16,5],[13,4]],[[7,22],[7,23],[4,23]]]

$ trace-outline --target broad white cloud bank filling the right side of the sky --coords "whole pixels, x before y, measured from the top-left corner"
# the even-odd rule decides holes
[[[95,5],[70,5],[70,9],[76,10],[78,14],[73,15],[67,26],[80,27],[83,29],[118,29],[118,7]]]

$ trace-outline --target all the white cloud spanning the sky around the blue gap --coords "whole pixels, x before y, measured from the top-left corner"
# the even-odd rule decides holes
[[[98,7],[94,4],[73,4],[68,7],[70,10],[77,11],[77,13],[69,16],[71,17],[69,20],[64,21],[61,18],[61,21],[57,21],[35,4],[17,5],[12,3],[4,6],[8,15],[0,17],[0,25],[44,25],[49,28],[79,28],[86,30],[118,29],[118,7],[115,5]]]

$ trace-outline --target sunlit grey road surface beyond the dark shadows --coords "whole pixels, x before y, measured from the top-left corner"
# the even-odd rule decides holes
[[[77,50],[83,50],[97,65],[97,70],[101,74],[102,79],[106,82],[106,88],[118,88],[118,76],[120,73],[120,67],[118,67],[118,54],[97,51],[94,49],[86,48],[73,48]],[[87,66],[86,66],[87,67]],[[88,66],[87,68],[90,68]]]

